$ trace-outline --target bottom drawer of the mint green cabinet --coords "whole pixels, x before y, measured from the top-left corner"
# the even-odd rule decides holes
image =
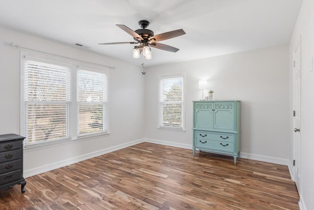
[[[209,150],[220,150],[234,152],[234,143],[224,141],[211,141],[204,139],[196,139],[196,146]]]

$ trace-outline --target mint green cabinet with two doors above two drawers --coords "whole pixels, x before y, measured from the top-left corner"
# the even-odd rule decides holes
[[[229,154],[240,151],[240,101],[193,101],[195,150]]]

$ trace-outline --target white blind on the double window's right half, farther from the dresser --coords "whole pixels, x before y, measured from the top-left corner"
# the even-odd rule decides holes
[[[107,131],[105,73],[78,69],[78,135]]]

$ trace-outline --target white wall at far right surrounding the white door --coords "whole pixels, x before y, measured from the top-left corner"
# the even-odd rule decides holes
[[[301,177],[300,209],[314,210],[314,1],[303,0],[290,41],[290,90],[292,92],[293,51],[301,37]],[[290,94],[292,101],[292,94]],[[292,108],[291,108],[292,111]],[[292,118],[290,118],[292,131]],[[291,134],[292,136],[292,134]],[[292,145],[292,138],[290,139]],[[292,154],[291,147],[290,153]],[[292,159],[290,159],[292,161]]]

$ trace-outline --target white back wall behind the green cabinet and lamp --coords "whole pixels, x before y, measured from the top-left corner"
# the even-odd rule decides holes
[[[202,98],[198,80],[206,79],[214,99],[241,100],[241,156],[288,165],[288,55],[285,45],[147,68],[145,139],[192,149],[191,101]],[[180,72],[186,75],[186,131],[157,129],[158,75]]]

